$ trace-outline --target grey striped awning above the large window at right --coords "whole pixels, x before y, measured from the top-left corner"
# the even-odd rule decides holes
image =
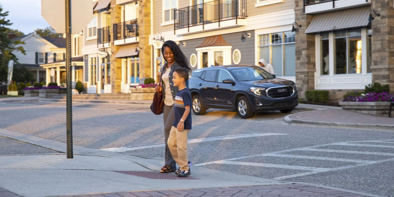
[[[370,6],[342,9],[315,15],[305,33],[331,32],[368,26]]]

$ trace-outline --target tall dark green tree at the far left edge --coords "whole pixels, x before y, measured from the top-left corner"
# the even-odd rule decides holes
[[[3,8],[0,5],[0,83],[7,81],[8,75],[8,62],[9,60],[14,60],[14,64],[18,64],[18,58],[13,53],[15,50],[20,51],[22,54],[26,55],[26,51],[22,46],[25,44],[20,40],[11,41],[8,38],[8,28],[12,23],[6,19],[8,16],[8,11],[3,12]]]

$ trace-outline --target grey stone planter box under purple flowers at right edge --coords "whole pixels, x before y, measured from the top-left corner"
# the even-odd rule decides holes
[[[369,114],[373,116],[388,117],[390,102],[339,102],[343,110]]]

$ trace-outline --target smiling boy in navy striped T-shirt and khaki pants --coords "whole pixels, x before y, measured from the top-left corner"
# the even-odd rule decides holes
[[[191,129],[191,95],[186,87],[186,80],[189,78],[188,70],[185,68],[175,69],[173,73],[174,86],[179,87],[175,96],[175,120],[170,130],[170,136],[167,141],[168,148],[171,151],[175,162],[179,165],[175,174],[178,177],[188,177],[190,168],[188,164],[188,133]]]

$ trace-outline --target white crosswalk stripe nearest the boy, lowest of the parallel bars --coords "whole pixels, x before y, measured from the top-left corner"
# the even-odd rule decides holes
[[[233,162],[233,161],[217,161],[214,164],[251,165],[251,166],[260,166],[260,167],[275,167],[275,168],[308,170],[308,171],[327,171],[329,169],[324,167],[308,167],[308,166],[299,166],[299,165],[265,164],[265,163]]]

